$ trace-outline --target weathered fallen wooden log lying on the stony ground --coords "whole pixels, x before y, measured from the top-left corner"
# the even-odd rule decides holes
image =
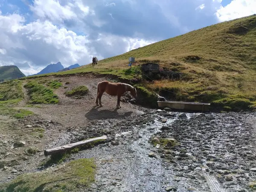
[[[48,155],[51,155],[51,154],[62,153],[62,152],[65,152],[65,151],[69,151],[73,148],[79,147],[81,145],[85,145],[87,143],[97,141],[97,140],[106,140],[107,138],[108,137],[104,135],[102,137],[96,137],[96,138],[92,138],[92,139],[89,139],[89,140],[79,141],[79,142],[76,142],[76,143],[70,143],[68,145],[63,145],[63,146],[56,147],[56,148],[46,149],[46,150],[44,150],[44,155],[48,156]]]

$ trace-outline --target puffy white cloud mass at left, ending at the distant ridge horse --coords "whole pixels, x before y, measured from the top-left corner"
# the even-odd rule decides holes
[[[64,67],[90,63],[93,55],[85,47],[86,36],[59,28],[49,21],[24,22],[24,18],[16,14],[0,15],[0,23],[3,23],[0,25],[0,52],[4,54],[1,65],[16,64],[30,74],[38,71],[38,67],[58,61]]]

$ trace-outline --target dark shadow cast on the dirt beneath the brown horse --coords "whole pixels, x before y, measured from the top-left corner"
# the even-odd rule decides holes
[[[130,116],[133,112],[132,111],[128,111],[126,113],[118,113],[117,110],[118,109],[114,109],[114,110],[107,110],[107,109],[103,109],[100,110],[101,107],[99,106],[95,106],[93,108],[91,108],[90,111],[88,111],[88,113],[85,114],[85,117],[89,120],[95,120],[95,119],[120,119],[120,118],[124,118],[127,116]]]

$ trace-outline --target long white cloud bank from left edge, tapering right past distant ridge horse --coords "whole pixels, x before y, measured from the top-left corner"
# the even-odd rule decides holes
[[[53,25],[49,20],[25,22],[24,17],[17,14],[0,15],[3,23],[0,25],[0,66],[17,65],[25,75],[38,73],[47,64],[58,61],[64,67],[75,63],[84,65],[95,55],[103,59],[105,55],[122,54],[127,47],[132,49],[150,43],[108,33],[89,41],[87,36]]]

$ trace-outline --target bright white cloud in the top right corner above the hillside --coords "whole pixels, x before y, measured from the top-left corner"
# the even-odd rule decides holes
[[[233,0],[215,14],[221,22],[256,14],[256,0]]]

